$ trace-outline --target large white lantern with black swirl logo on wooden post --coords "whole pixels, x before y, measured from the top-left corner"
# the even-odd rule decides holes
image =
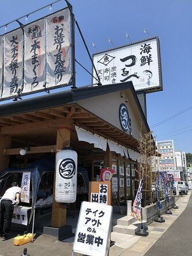
[[[73,203],[77,195],[77,152],[66,149],[56,154],[55,201]]]

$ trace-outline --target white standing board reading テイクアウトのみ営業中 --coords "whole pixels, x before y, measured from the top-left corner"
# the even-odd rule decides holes
[[[110,250],[112,206],[82,202],[73,244],[74,253],[106,256]]]

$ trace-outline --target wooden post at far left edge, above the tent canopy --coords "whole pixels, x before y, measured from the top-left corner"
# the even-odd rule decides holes
[[[12,137],[0,134],[0,172],[9,167],[9,156],[4,156],[4,149],[11,148]]]

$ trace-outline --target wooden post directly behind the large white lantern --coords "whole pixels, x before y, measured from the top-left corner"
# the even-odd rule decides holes
[[[57,130],[57,150],[61,150],[63,146],[70,145],[70,129],[62,127]],[[52,195],[52,216],[51,227],[61,228],[66,225],[66,206],[55,201],[55,179],[54,175],[54,187]]]

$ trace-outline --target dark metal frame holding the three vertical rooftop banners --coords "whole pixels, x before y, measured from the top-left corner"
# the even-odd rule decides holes
[[[70,81],[68,82],[68,84],[62,84],[62,85],[55,85],[55,86],[52,86],[52,87],[49,87],[49,88],[45,88],[44,89],[39,89],[38,91],[32,91],[32,92],[27,92],[27,93],[19,93],[17,96],[10,96],[10,97],[3,97],[3,99],[1,99],[0,97],[0,102],[1,101],[5,101],[5,100],[10,100],[10,99],[17,99],[17,98],[20,98],[22,96],[28,96],[28,95],[32,95],[32,94],[35,94],[35,93],[40,93],[40,92],[47,92],[49,93],[49,91],[53,90],[53,89],[58,89],[58,88],[63,88],[63,87],[67,87],[67,86],[71,86],[72,85],[72,88],[76,88],[76,72],[75,72],[75,48],[74,48],[74,44],[75,44],[75,36],[74,36],[74,14],[73,12],[71,12],[71,9],[69,7],[65,7],[65,8],[62,8],[60,10],[57,10],[56,12],[54,13],[51,13],[51,14],[48,14],[47,16],[43,16],[41,18],[38,18],[37,20],[33,20],[32,22],[29,22],[27,24],[23,24],[23,26],[20,26],[20,27],[17,27],[9,32],[6,32],[6,33],[3,33],[0,35],[0,37],[2,37],[2,46],[3,46],[3,49],[4,49],[4,43],[3,43],[3,36],[11,33],[11,32],[14,32],[16,31],[17,29],[22,29],[22,32],[23,32],[23,35],[24,35],[24,28],[27,27],[28,25],[31,25],[33,24],[34,22],[38,22],[40,20],[45,20],[46,18],[58,13],[58,12],[62,12],[63,10],[66,10],[66,9],[69,9],[69,16],[70,16],[70,29],[69,29],[69,34],[70,34],[70,49],[71,49],[71,53],[70,53],[70,65],[71,65],[71,78],[70,78]],[[47,36],[47,35],[46,35]],[[46,39],[47,40],[47,39]],[[25,39],[24,39],[25,41]],[[25,43],[23,42],[23,48],[24,48],[24,51],[25,51]],[[46,48],[47,48],[47,45],[46,45]],[[4,51],[4,50],[3,50]],[[47,55],[47,52],[46,52],[46,55]],[[4,62],[4,57],[3,57],[3,62]],[[47,57],[46,57],[46,62],[47,62]],[[23,67],[24,67],[24,60],[23,60]],[[46,63],[47,65],[47,63]],[[24,67],[25,68],[25,67]],[[4,80],[4,65],[2,67],[2,91],[3,91],[3,80]],[[25,75],[25,72],[23,70],[23,73],[22,73],[22,86],[24,86],[24,75]],[[1,89],[0,89],[0,93],[2,94],[1,92]],[[0,95],[1,96],[1,95]]]

